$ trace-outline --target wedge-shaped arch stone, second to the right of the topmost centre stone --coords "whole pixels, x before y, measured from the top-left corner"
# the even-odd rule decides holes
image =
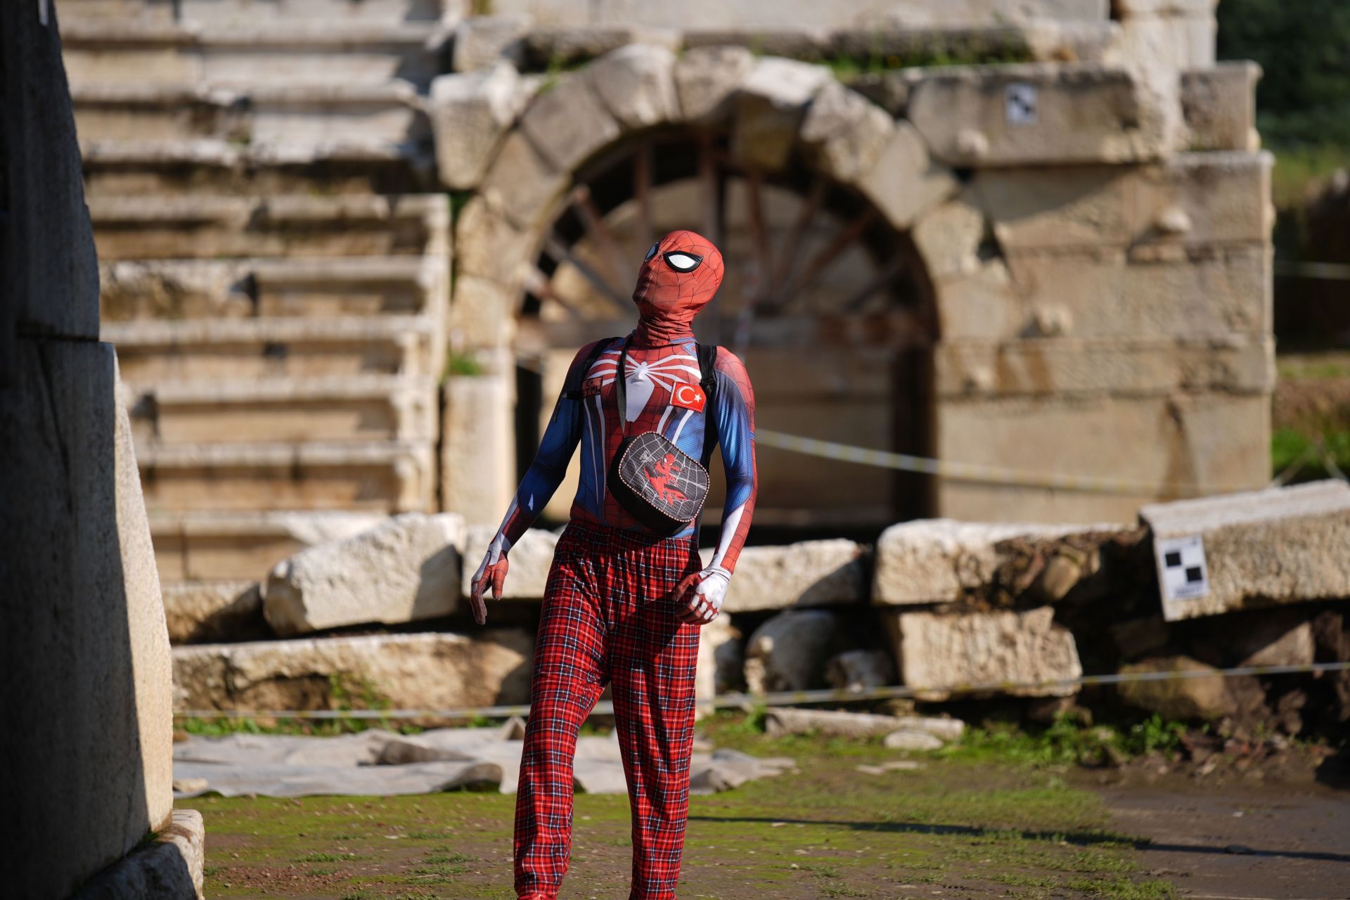
[[[806,111],[801,140],[815,166],[845,184],[869,173],[890,142],[892,120],[863,94],[829,81]]]

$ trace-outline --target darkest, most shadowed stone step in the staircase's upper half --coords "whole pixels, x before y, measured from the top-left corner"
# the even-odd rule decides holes
[[[436,190],[429,144],[346,135],[317,144],[96,140],[84,152],[85,196],[416,194]]]

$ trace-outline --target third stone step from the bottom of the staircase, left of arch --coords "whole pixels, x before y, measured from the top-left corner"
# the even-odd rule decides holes
[[[435,378],[124,382],[138,443],[432,441]]]

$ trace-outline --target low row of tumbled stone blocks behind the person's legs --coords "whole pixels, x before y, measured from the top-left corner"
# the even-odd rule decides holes
[[[921,703],[1011,702],[1029,715],[1081,698],[1116,712],[1227,718],[1249,733],[1335,727],[1350,714],[1350,676],[1202,679],[1199,694],[1189,683],[1103,692],[1076,679],[1350,658],[1350,567],[1338,552],[1347,529],[1350,487],[1323,482],[1153,505],[1137,524],[921,519],[875,546],[748,546],[721,615],[701,631],[699,704],[738,690],[899,684]],[[174,649],[180,708],[428,716],[526,702],[558,534],[532,529],[512,548],[483,629],[463,598],[493,530],[405,514],[278,564],[258,623],[231,627],[204,607],[224,642]],[[1203,542],[1208,591],[1176,598],[1160,587],[1164,542],[1185,536]],[[338,631],[385,626],[400,633]]]

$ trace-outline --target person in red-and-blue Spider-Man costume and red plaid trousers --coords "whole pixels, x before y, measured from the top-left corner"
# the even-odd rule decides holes
[[[624,341],[583,347],[567,379],[582,389],[559,398],[539,455],[474,576],[470,602],[482,625],[485,590],[501,598],[510,548],[558,490],[579,443],[580,486],[548,575],[516,797],[516,892],[522,900],[554,900],[567,872],[576,730],[606,684],[633,818],[629,897],[675,896],[688,814],[698,629],[722,607],[756,490],[755,398],[745,367],[720,349],[711,402],[699,386],[690,325],[721,282],[722,255],[693,232],[672,232],[647,252],[633,290],[637,328],[626,339],[628,407],[617,409],[614,387]],[[609,494],[606,472],[625,430],[657,432],[699,459],[709,426],[722,448],[726,505],[717,551],[703,567],[697,519],[674,537],[648,530]]]

